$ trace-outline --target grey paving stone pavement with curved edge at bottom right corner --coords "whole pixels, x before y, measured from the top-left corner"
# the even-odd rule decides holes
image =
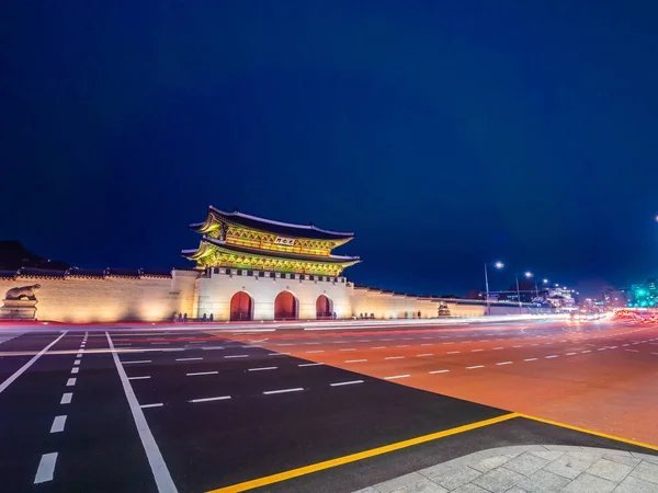
[[[658,493],[658,457],[529,445],[480,450],[354,493]]]

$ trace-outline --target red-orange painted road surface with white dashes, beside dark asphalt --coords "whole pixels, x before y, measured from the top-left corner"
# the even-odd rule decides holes
[[[543,335],[453,340],[452,344],[413,337],[349,345],[331,340],[314,346],[280,347],[269,341],[261,345],[375,378],[401,377],[390,380],[400,385],[658,445],[658,355],[651,354],[658,353],[654,345],[658,326],[611,324],[601,331],[585,328],[581,333]],[[432,345],[421,345],[428,343]],[[460,353],[447,354],[454,351]],[[430,372],[443,370],[449,371]]]

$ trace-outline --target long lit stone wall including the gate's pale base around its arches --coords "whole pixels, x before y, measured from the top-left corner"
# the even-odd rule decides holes
[[[215,272],[216,271],[216,272]],[[43,274],[43,273],[42,273]],[[247,293],[253,302],[253,320],[274,319],[274,299],[290,291],[297,300],[300,320],[316,319],[316,300],[329,298],[337,319],[372,318],[412,319],[449,317],[480,317],[483,302],[442,300],[374,288],[354,287],[344,277],[299,274],[261,273],[216,268],[206,272],[173,270],[169,275],[149,276],[107,274],[83,275],[16,275],[0,277],[0,297],[16,287],[39,285],[33,302],[36,318],[60,322],[171,321],[174,314],[189,319],[213,316],[215,321],[230,318],[230,300],[239,291]],[[0,303],[2,298],[0,298]],[[439,312],[441,305],[447,312]],[[492,303],[492,314],[518,313],[518,306]],[[7,310],[0,313],[7,317]]]

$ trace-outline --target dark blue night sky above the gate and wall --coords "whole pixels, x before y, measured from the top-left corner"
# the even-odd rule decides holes
[[[658,271],[658,4],[5,2],[0,238],[186,265],[208,204],[351,230],[347,275]]]

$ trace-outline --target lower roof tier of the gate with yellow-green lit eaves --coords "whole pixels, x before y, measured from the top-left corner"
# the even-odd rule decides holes
[[[196,250],[183,250],[183,256],[196,262],[198,268],[238,267],[257,271],[295,272],[338,276],[359,257],[300,255],[238,246],[212,238],[201,241]]]

